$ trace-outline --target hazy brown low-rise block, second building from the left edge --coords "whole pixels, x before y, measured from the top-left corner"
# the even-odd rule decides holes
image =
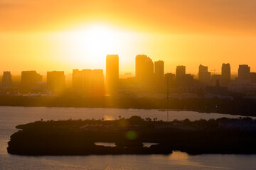
[[[21,72],[21,86],[24,88],[36,86],[38,85],[38,82],[42,81],[42,79],[43,77],[34,70]]]

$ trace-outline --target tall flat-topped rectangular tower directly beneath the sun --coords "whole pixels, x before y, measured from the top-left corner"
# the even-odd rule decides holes
[[[115,94],[119,87],[119,57],[107,55],[106,57],[106,93]]]

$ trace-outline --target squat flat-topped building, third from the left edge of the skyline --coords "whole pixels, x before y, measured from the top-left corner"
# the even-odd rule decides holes
[[[65,88],[64,72],[47,72],[47,89],[53,92],[63,91]]]

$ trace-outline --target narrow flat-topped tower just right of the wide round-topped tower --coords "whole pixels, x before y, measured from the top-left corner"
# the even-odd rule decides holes
[[[164,85],[164,62],[159,60],[154,62],[154,75],[157,86]]]

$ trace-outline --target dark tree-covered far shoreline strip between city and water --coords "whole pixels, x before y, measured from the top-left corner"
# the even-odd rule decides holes
[[[111,97],[79,95],[64,96],[0,96],[0,106],[46,106],[85,108],[144,108],[165,109],[166,98],[137,98],[132,96]],[[203,113],[226,113],[256,116],[256,101],[242,96],[228,98],[169,99],[169,108]]]

